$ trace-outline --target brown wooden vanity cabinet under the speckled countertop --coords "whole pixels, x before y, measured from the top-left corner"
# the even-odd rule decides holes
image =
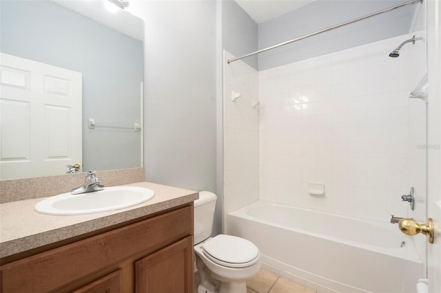
[[[2,263],[1,293],[193,291],[193,204]]]

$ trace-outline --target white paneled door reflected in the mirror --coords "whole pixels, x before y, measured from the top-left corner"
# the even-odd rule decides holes
[[[82,75],[1,54],[0,180],[82,165]]]

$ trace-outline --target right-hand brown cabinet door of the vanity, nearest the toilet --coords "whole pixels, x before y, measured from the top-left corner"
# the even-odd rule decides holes
[[[192,236],[136,261],[135,287],[137,293],[192,293]]]

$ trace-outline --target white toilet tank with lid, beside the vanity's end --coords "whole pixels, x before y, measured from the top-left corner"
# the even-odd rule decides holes
[[[194,244],[212,235],[216,199],[214,193],[199,191],[199,199],[194,201]]]

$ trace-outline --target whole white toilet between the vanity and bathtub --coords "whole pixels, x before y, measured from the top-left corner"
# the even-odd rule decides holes
[[[220,283],[219,293],[246,293],[245,281],[260,269],[260,252],[254,243],[240,237],[210,237],[216,198],[214,193],[200,191],[194,201],[194,251],[209,275]],[[200,286],[199,292],[206,292],[205,287],[201,290]]]

